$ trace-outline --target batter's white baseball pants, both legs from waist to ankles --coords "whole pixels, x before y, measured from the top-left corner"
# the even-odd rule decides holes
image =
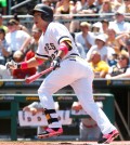
[[[54,109],[52,94],[60,89],[72,85],[83,109],[96,121],[103,134],[116,128],[110,123],[103,110],[94,103],[92,91],[93,71],[89,64],[76,56],[76,60],[66,58],[61,67],[53,70],[41,83],[38,94],[43,108]],[[49,124],[50,128],[60,128],[60,122]]]

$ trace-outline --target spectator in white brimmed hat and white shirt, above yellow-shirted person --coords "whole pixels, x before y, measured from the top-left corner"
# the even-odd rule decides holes
[[[101,54],[101,60],[107,62],[108,60],[108,47],[106,45],[105,35],[99,35],[95,38],[95,44],[90,48],[87,53],[87,61],[90,62],[93,51],[98,51]]]

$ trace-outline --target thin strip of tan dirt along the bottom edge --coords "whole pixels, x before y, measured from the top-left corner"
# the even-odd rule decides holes
[[[37,141],[16,141],[16,142],[0,142],[0,145],[98,145],[96,142],[37,142]],[[103,145],[103,144],[102,144]],[[107,145],[107,144],[104,144]],[[110,145],[130,145],[129,142],[113,142]]]

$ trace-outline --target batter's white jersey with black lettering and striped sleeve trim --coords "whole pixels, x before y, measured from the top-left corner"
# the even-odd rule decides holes
[[[78,54],[78,50],[68,29],[60,23],[50,23],[46,34],[41,35],[40,37],[36,56],[44,60],[54,60],[57,55],[60,43],[64,40],[70,41],[73,48],[70,51],[68,51],[65,57],[69,56],[70,54]]]

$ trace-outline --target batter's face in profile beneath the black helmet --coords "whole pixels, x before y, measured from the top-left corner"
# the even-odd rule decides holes
[[[34,23],[39,29],[43,29],[44,27],[44,21],[41,18],[40,12],[35,12],[34,14]]]

